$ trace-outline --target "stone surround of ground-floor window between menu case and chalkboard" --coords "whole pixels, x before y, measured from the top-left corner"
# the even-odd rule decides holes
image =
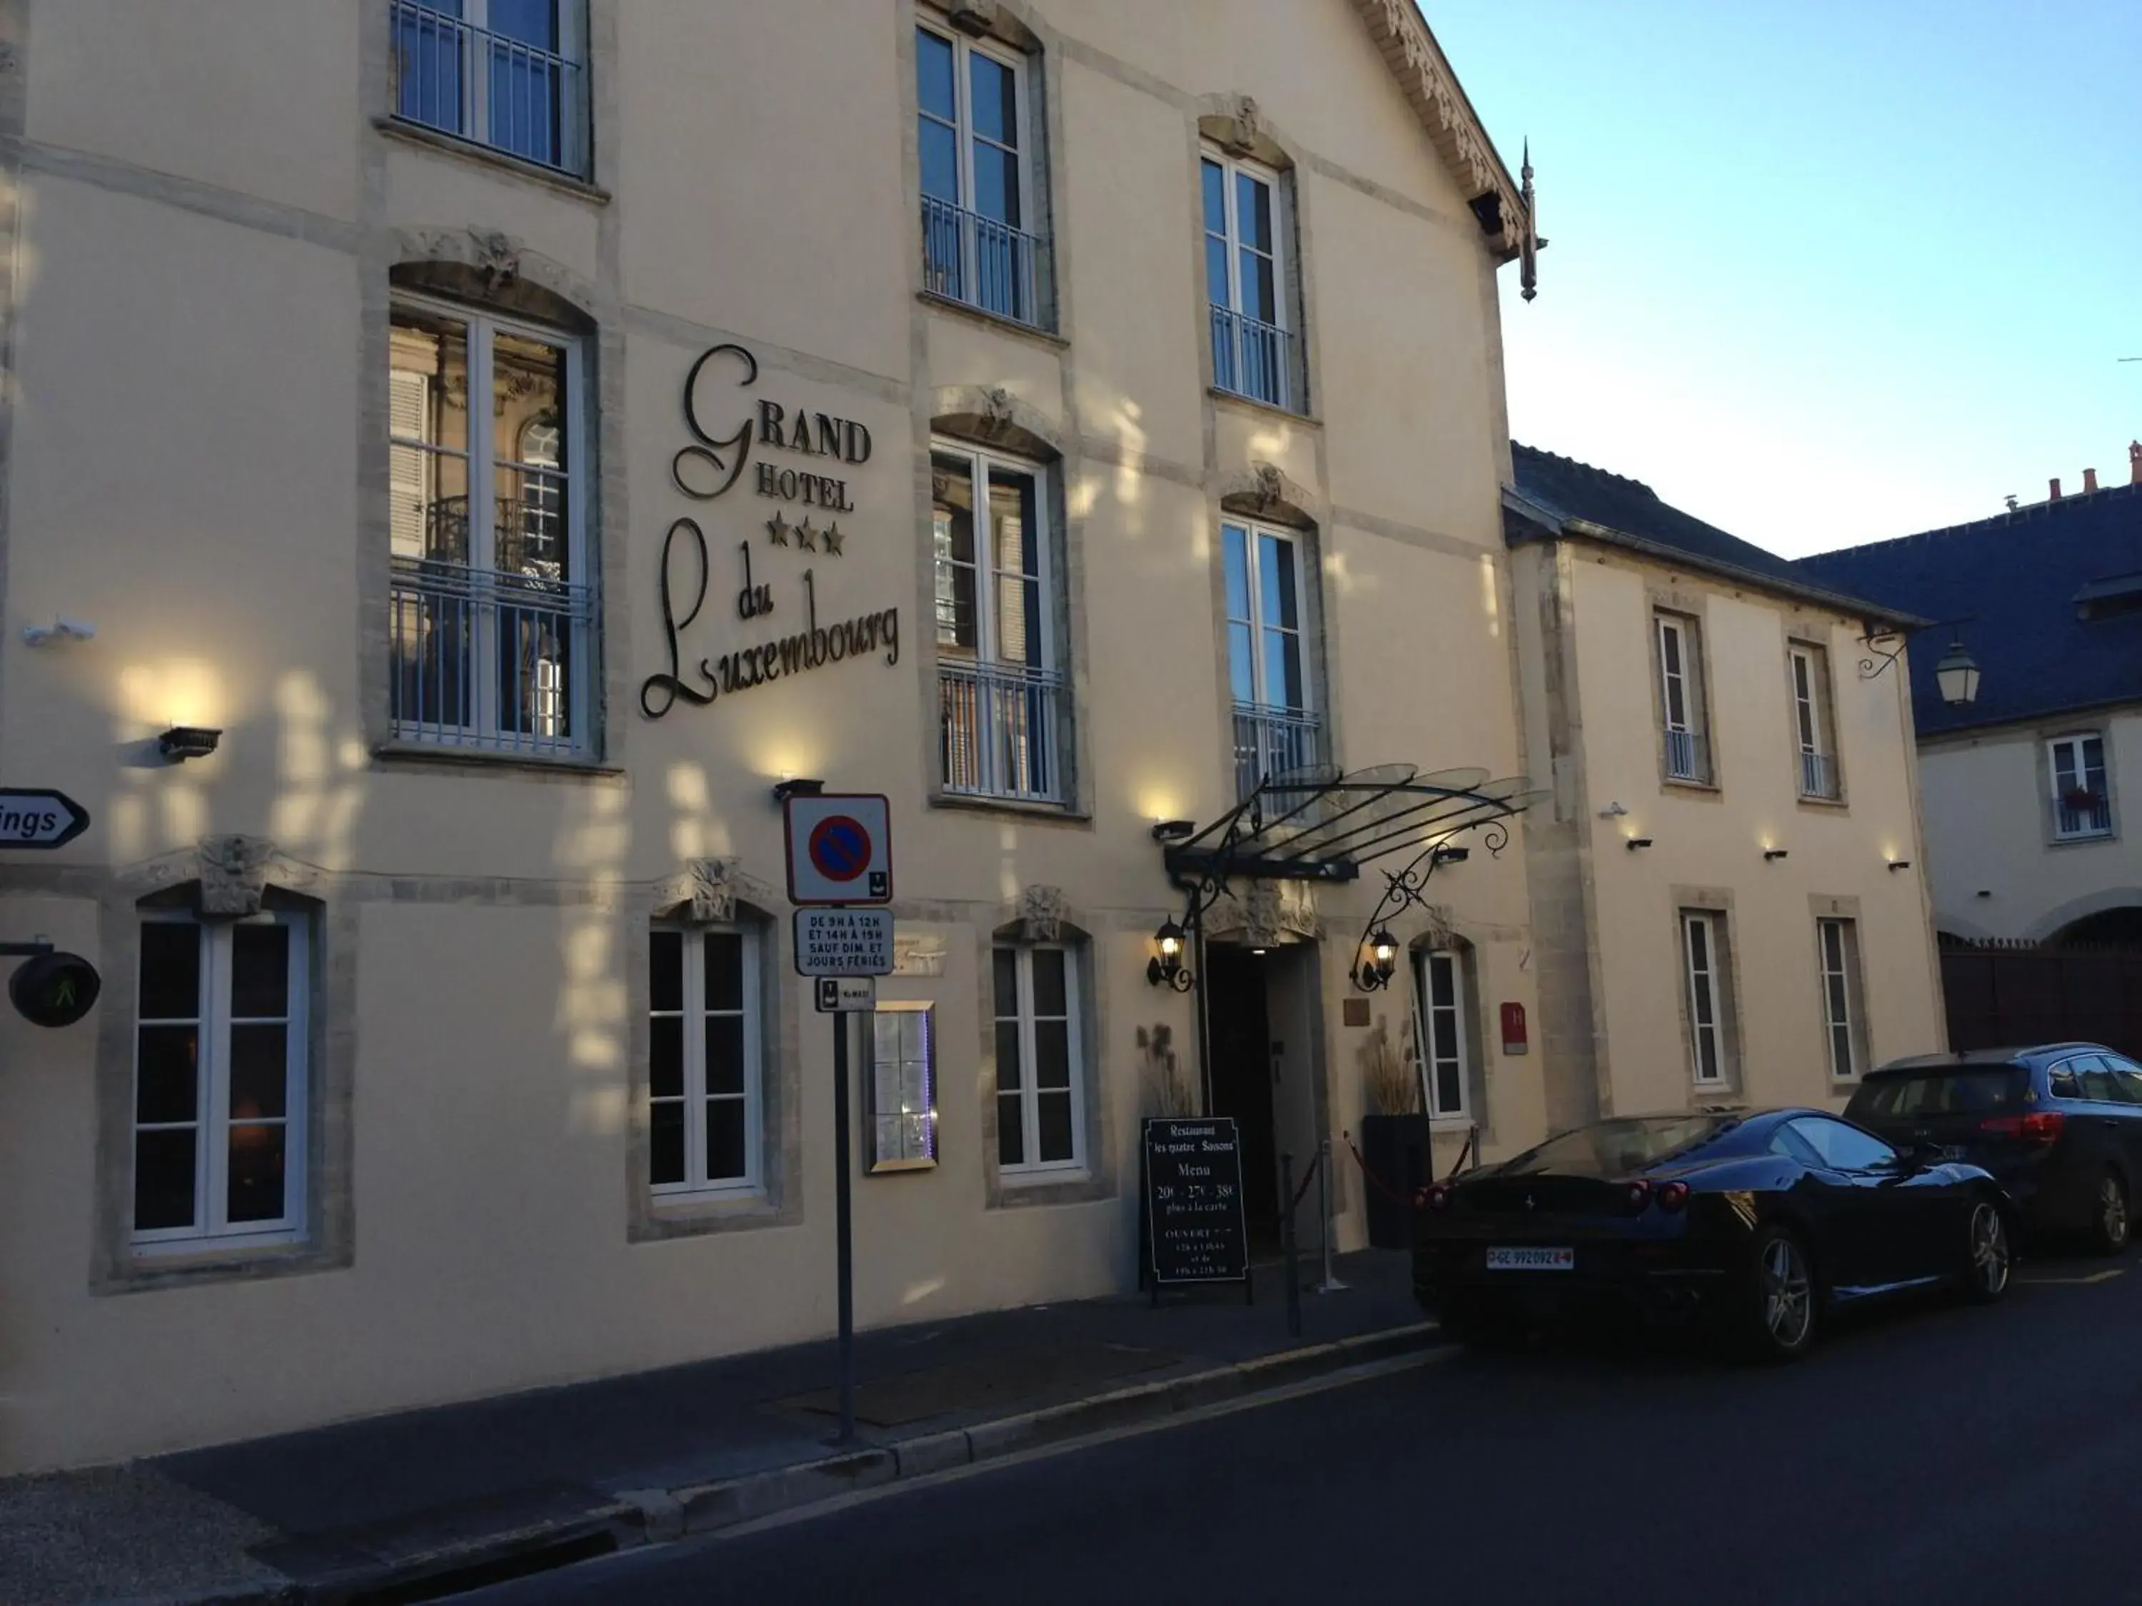
[[[1105,1045],[1101,1021],[1107,1019],[1107,966],[1099,961],[1101,944],[1095,938],[1090,916],[1071,904],[1060,887],[1026,887],[1013,904],[998,910],[994,927],[975,927],[975,996],[977,1036],[981,1051],[979,1099],[981,1099],[981,1169],[983,1195],[990,1210],[1017,1210],[1032,1206],[1095,1203],[1116,1197],[1116,1161],[1107,1143],[1110,1086],[1105,1073]],[[1086,1105],[1084,1128],[1080,1131],[1086,1165],[1077,1171],[1039,1171],[1035,1176],[1011,1173],[996,1163],[996,959],[994,951],[1005,944],[1056,944],[1069,949],[1077,964],[1077,1013],[1080,1013],[1080,1064],[1073,1075],[1082,1077]]]

